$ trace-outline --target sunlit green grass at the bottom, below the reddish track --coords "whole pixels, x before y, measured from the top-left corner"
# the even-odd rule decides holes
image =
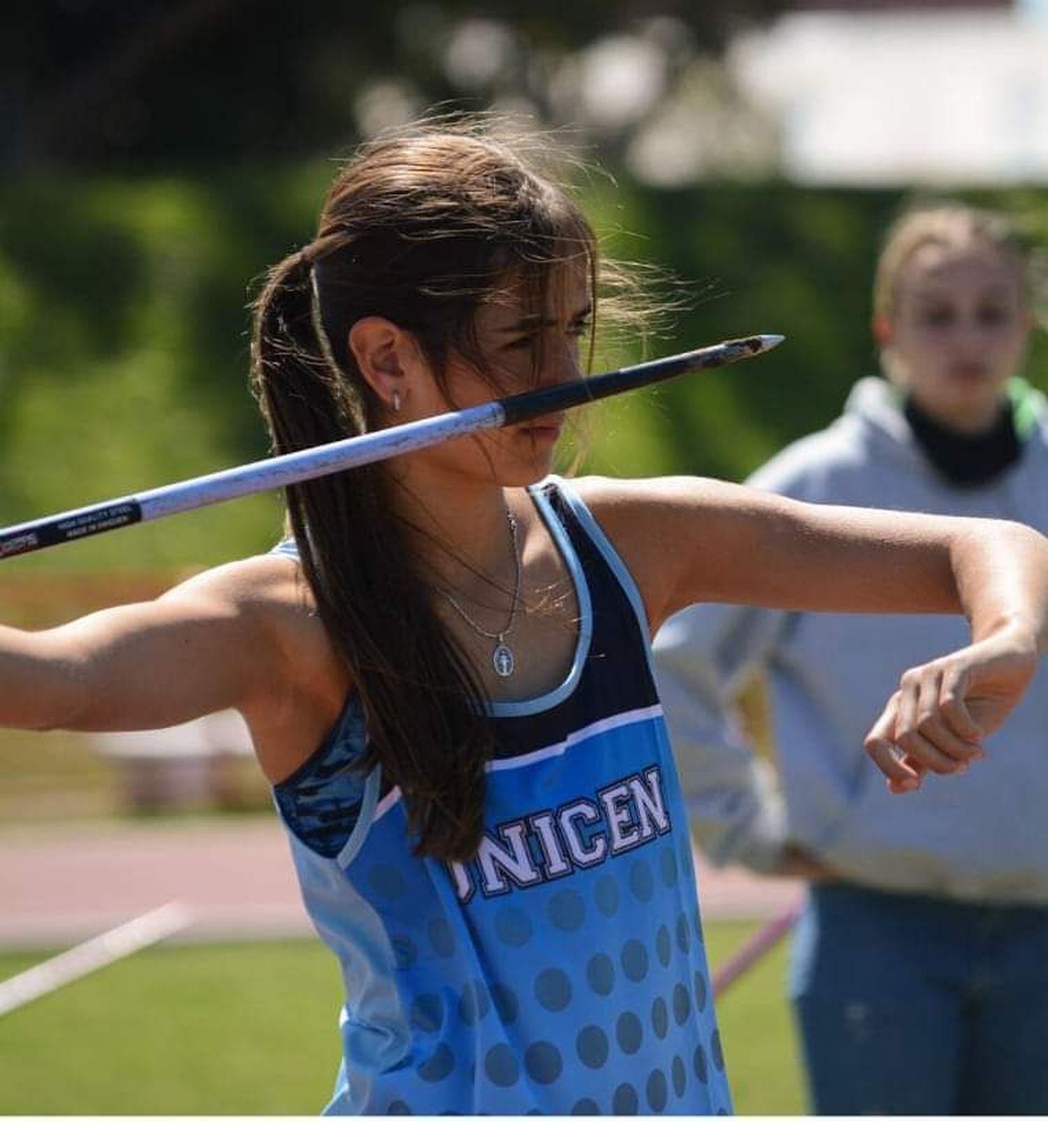
[[[711,961],[752,929],[713,924]],[[0,955],[0,979],[44,955]],[[724,995],[740,1113],[804,1099],[779,946]],[[146,951],[0,1019],[3,1114],[315,1114],[337,1066],[338,978],[318,943]]]

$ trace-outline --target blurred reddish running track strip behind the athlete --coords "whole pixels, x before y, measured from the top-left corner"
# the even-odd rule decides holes
[[[800,896],[796,881],[696,861],[707,919],[770,918]],[[67,946],[174,899],[194,914],[186,938],[312,933],[275,818],[0,832],[0,947]]]

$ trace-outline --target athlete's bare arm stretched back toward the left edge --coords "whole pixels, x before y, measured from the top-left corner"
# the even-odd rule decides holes
[[[347,687],[310,608],[291,560],[256,557],[52,630],[2,627],[0,726],[127,731],[238,708],[280,778]]]

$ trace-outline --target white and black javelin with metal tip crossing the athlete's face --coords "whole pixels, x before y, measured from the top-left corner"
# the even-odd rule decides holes
[[[666,381],[694,370],[708,370],[727,365],[754,354],[762,354],[782,342],[782,335],[751,335],[730,339],[723,343],[686,351],[653,362],[623,367],[593,378],[535,389],[501,400],[475,405],[472,408],[442,413],[409,424],[382,428],[378,432],[351,436],[306,447],[286,455],[245,463],[239,467],[215,471],[212,474],[169,483],[140,494],[98,502],[94,506],[66,510],[35,521],[0,529],[0,559],[33,553],[50,545],[62,545],[111,529],[121,529],[139,521],[154,521],[184,510],[196,510],[215,502],[225,502],[244,494],[290,487],[294,483],[318,479],[322,475],[360,467],[395,455],[417,452],[458,436],[469,436],[486,428],[504,428],[532,417],[562,409],[575,408],[613,393]]]

